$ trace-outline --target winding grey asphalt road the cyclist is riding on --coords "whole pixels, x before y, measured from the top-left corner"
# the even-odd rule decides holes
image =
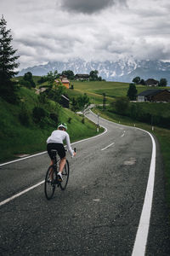
[[[88,117],[97,122],[96,116]],[[71,176],[47,201],[43,184],[0,207],[0,255],[131,255],[150,172],[150,136],[99,119],[105,134],[75,143]],[[108,147],[109,146],[109,147]],[[145,255],[170,255],[163,166],[156,180]],[[44,148],[45,150],[45,148]],[[47,154],[0,166],[0,201],[41,182]]]

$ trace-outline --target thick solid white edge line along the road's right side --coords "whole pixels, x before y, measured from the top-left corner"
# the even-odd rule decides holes
[[[139,129],[142,130],[142,129]],[[142,130],[144,131],[144,130]],[[152,141],[152,155],[150,161],[150,174],[148,178],[148,184],[144,197],[144,205],[139,221],[139,228],[136,234],[136,239],[133,246],[132,256],[144,256],[147,238],[150,228],[150,214],[151,206],[153,200],[153,191],[154,191],[154,181],[155,181],[155,172],[156,172],[156,143],[150,132],[147,132]]]

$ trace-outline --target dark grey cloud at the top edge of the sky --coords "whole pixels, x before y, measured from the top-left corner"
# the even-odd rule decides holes
[[[62,0],[61,7],[73,12],[93,14],[117,3],[126,4],[126,0]]]

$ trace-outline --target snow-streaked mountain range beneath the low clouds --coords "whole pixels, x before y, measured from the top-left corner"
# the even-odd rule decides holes
[[[33,75],[47,75],[49,71],[57,70],[62,73],[64,70],[72,70],[77,73],[90,73],[98,70],[99,76],[107,81],[132,82],[133,78],[140,79],[167,79],[170,83],[170,62],[163,61],[136,61],[133,58],[120,59],[118,61],[84,61],[80,58],[69,61],[48,61],[47,64],[22,69],[20,76],[27,72]],[[169,85],[169,84],[168,84]]]

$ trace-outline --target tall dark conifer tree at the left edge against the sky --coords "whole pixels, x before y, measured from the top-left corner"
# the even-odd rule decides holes
[[[11,79],[18,73],[14,69],[19,67],[19,63],[15,62],[19,56],[15,55],[17,50],[11,45],[13,38],[6,26],[7,22],[2,16],[0,20],[0,93],[7,102],[15,103],[17,85]]]

